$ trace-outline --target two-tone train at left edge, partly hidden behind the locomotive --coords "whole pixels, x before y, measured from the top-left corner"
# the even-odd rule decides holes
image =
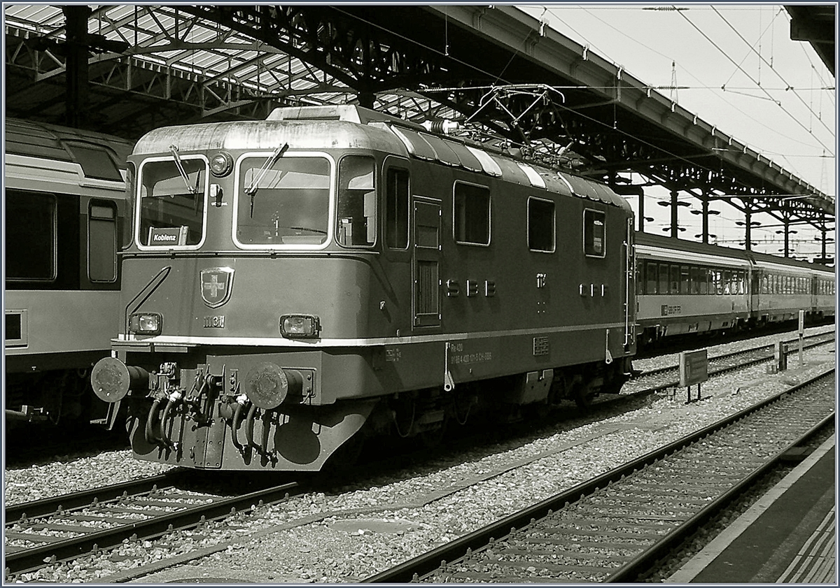
[[[118,328],[118,238],[132,144],[7,118],[6,419],[102,419],[90,369]]]

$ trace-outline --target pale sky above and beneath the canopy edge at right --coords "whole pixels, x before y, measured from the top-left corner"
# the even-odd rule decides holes
[[[817,190],[837,195],[837,100],[834,77],[811,48],[790,40],[790,16],[781,5],[718,4],[518,4],[533,18],[564,34],[650,86],[677,86],[659,93],[790,170]],[[652,9],[654,8],[654,9]],[[680,8],[676,10],[675,8]],[[674,81],[676,82],[674,84]],[[646,192],[647,232],[666,235],[669,209],[650,206],[667,194]],[[700,202],[680,207],[680,237],[701,232]],[[635,207],[635,203],[631,200]],[[743,214],[723,203],[711,205],[710,232],[717,242],[743,247]],[[753,250],[780,254],[779,221],[753,215]],[[791,234],[801,254],[820,252],[806,226]],[[834,237],[834,232],[829,233]],[[828,248],[833,252],[834,244]]]

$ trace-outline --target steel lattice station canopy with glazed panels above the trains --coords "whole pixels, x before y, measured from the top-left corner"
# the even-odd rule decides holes
[[[5,16],[7,112],[61,122],[62,8],[8,5]],[[417,122],[475,122],[544,159],[569,149],[581,173],[647,178],[633,190],[761,195],[795,221],[834,214],[832,198],[515,7],[111,5],[92,9],[87,34],[96,122],[127,137],[361,101]]]

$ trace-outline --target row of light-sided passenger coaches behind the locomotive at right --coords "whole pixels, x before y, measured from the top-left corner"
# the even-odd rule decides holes
[[[636,234],[638,336],[741,330],[834,316],[834,271],[728,247]]]

